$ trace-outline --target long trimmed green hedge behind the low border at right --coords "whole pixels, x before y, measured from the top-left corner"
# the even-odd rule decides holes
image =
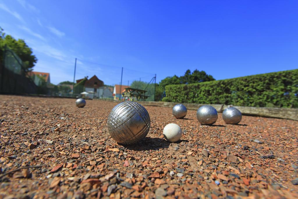
[[[196,84],[168,85],[165,89],[163,101],[298,108],[298,69]]]

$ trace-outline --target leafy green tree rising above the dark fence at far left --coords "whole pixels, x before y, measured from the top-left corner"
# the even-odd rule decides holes
[[[0,27],[0,49],[4,50],[5,46],[17,54],[26,71],[31,71],[37,62],[37,58],[32,53],[32,49],[25,43],[23,39],[16,40],[11,35],[5,35],[3,29]],[[3,54],[0,55],[0,61],[3,61]]]

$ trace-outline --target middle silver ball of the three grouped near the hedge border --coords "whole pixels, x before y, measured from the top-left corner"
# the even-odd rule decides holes
[[[197,119],[201,124],[207,124],[207,125],[214,124],[217,118],[218,118],[217,111],[212,106],[203,105],[197,111]]]

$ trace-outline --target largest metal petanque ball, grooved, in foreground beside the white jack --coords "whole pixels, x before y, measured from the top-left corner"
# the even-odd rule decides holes
[[[121,102],[108,116],[108,131],[118,143],[134,144],[144,139],[149,129],[149,113],[137,102]]]

